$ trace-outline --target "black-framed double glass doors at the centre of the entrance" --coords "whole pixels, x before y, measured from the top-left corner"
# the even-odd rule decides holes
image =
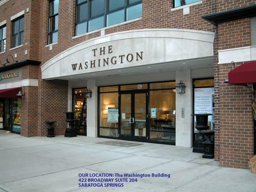
[[[147,140],[147,92],[127,91],[120,95],[120,138]]]

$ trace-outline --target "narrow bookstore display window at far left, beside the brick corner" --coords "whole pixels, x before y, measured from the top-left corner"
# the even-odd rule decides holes
[[[12,99],[12,132],[21,132],[21,98]]]

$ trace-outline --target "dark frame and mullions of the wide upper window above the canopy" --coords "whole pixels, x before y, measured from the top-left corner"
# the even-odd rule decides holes
[[[126,13],[127,11],[126,10],[127,10],[127,8],[133,7],[135,5],[138,5],[138,4],[142,3],[142,0],[139,0],[138,2],[134,2],[134,3],[129,4],[129,0],[125,0],[125,3],[124,3],[123,7],[120,7],[120,8],[117,8],[117,9],[113,9],[111,11],[108,11],[109,10],[109,0],[104,0],[104,13],[98,14],[96,16],[91,17],[91,1],[93,1],[93,0],[85,0],[85,2],[82,2],[82,3],[77,3],[77,0],[75,1],[75,30],[74,30],[74,36],[79,36],[79,35],[77,35],[77,25],[78,24],[82,24],[82,23],[87,22],[86,23],[86,32],[85,33],[92,32],[92,31],[88,30],[89,29],[89,27],[88,27],[89,26],[89,21],[91,21],[93,19],[96,19],[96,18],[99,18],[99,17],[102,17],[102,16],[104,16],[104,26],[103,26],[103,28],[104,27],[112,26],[112,25],[107,26],[107,15],[109,15],[109,14],[111,14],[113,12],[118,12],[118,11],[124,10],[123,22],[126,22],[127,21],[126,20],[126,16],[127,16],[127,13]],[[88,7],[87,19],[85,19],[83,21],[77,22],[77,7],[82,5],[82,4],[85,4],[85,3],[88,3],[88,6],[87,6]],[[130,21],[130,20],[128,20],[128,21]],[[121,23],[123,23],[123,22],[121,22]],[[102,29],[102,28],[100,28],[100,29]],[[95,31],[95,30],[93,30],[93,31]],[[82,35],[82,34],[80,34],[80,35]]]

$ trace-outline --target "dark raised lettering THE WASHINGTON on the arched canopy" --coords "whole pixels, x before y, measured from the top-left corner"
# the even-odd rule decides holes
[[[109,65],[123,64],[124,62],[132,62],[143,60],[143,51],[113,55],[113,46],[94,48],[91,51],[93,60],[86,60],[85,62],[71,64],[73,71],[87,70],[92,68],[102,68]],[[104,58],[98,58],[105,56]]]

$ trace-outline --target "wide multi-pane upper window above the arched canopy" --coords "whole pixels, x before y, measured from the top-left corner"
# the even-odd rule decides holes
[[[142,0],[76,0],[75,35],[142,16]]]

